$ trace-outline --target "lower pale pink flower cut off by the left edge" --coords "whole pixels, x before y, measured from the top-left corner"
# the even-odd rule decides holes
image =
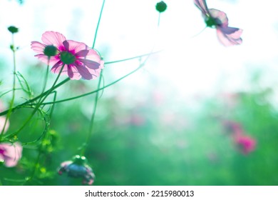
[[[22,146],[19,142],[0,144],[0,159],[4,160],[4,164],[7,167],[16,166],[19,159],[21,159],[21,154]]]

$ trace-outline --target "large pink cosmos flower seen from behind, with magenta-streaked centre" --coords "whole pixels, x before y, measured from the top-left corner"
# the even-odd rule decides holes
[[[70,79],[96,79],[103,69],[104,61],[98,52],[78,41],[67,40],[63,34],[54,31],[46,31],[41,40],[31,42],[31,49],[36,57],[44,63],[52,66],[53,73],[67,74]],[[54,56],[46,55],[46,47],[55,46],[57,53]],[[51,49],[51,48],[50,48]]]

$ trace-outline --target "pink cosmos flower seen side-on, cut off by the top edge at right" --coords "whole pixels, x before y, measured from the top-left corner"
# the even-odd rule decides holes
[[[227,15],[217,9],[207,9],[205,0],[194,0],[195,5],[202,11],[205,23],[209,27],[215,27],[217,37],[224,46],[242,44],[242,29],[228,26]]]

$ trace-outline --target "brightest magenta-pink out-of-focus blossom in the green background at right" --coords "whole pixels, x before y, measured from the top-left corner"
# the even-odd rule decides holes
[[[235,143],[240,146],[243,154],[249,154],[251,151],[254,151],[256,147],[256,141],[252,137],[246,135],[236,136]]]

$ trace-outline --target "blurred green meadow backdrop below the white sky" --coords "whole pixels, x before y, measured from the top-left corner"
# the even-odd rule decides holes
[[[33,75],[42,72],[37,66],[30,71]],[[277,185],[278,112],[271,103],[272,89],[260,88],[260,79],[258,74],[250,79],[250,91],[194,96],[191,101],[148,76],[145,81],[150,88],[145,91],[128,89],[125,81],[106,89],[86,151],[96,174],[94,185]],[[58,97],[90,91],[88,85],[95,83],[71,81],[58,91]],[[46,151],[28,184],[81,184],[81,179],[59,176],[57,170],[62,161],[80,153],[93,99],[87,96],[56,104],[51,136],[43,141]],[[16,111],[10,131],[29,114],[27,109]],[[257,141],[254,151],[242,153],[231,131],[223,126],[225,120],[241,124],[244,133]],[[41,118],[34,118],[19,134],[20,141],[38,138],[43,126]],[[1,166],[2,184],[24,183],[34,169],[37,145],[24,146],[23,158],[15,168]]]

